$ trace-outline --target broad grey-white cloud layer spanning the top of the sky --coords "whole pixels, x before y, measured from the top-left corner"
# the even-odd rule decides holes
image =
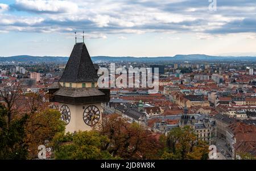
[[[0,13],[0,30],[6,31],[85,30],[92,35],[192,32],[200,33],[199,39],[256,32],[255,0],[218,1],[216,12],[209,11],[208,1],[197,0],[16,0],[13,5],[2,6],[5,11]],[[8,8],[17,12],[8,14]]]

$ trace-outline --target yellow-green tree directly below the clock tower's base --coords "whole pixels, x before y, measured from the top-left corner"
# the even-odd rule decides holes
[[[96,131],[61,132],[53,138],[52,145],[55,159],[114,159],[108,151],[102,150],[102,145],[108,141],[108,137]]]

